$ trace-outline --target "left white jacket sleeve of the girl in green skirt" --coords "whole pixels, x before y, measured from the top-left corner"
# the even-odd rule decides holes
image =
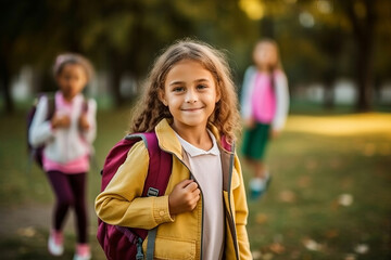
[[[253,66],[249,67],[244,73],[240,96],[240,113],[244,119],[252,117],[251,96],[254,88],[254,75],[255,68]]]

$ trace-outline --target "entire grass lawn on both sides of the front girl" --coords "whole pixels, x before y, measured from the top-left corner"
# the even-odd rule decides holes
[[[91,209],[98,169],[125,134],[128,116],[129,109],[99,112]],[[46,243],[53,196],[45,174],[36,166],[27,170],[25,114],[0,115],[0,126],[1,259],[52,259]],[[391,114],[293,114],[268,152],[269,191],[249,202],[255,259],[390,259]],[[247,182],[245,165],[243,172]],[[93,259],[104,259],[92,210],[90,219]],[[73,256],[75,234],[67,226],[65,255],[58,259]]]

